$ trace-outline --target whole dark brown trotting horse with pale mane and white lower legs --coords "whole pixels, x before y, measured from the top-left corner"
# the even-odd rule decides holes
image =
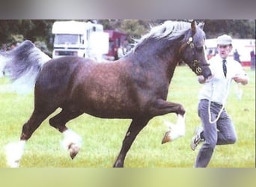
[[[49,125],[64,135],[71,159],[79,153],[82,138],[66,123],[84,113],[132,120],[115,168],[124,167],[133,141],[153,117],[177,114],[177,124],[170,126],[162,144],[183,136],[186,111],[180,103],[167,101],[168,87],[180,61],[196,75],[210,78],[203,26],[195,21],[163,22],[136,40],[123,58],[101,63],[75,56],[49,59],[25,40],[10,52],[12,60],[4,67],[4,74],[15,81],[25,75],[34,83],[34,111],[22,126],[20,140],[7,145],[8,165],[19,167],[28,139],[57,108],[61,111],[49,119]]]

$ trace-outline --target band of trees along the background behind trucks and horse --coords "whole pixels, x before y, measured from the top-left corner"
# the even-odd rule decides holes
[[[178,19],[176,19],[178,20]],[[150,25],[159,25],[165,19],[79,19],[79,21],[91,21],[103,24],[104,29],[115,29],[127,34],[129,43],[138,39],[150,30]],[[185,20],[189,21],[189,20]],[[204,31],[207,38],[230,34],[234,38],[255,38],[255,19],[198,19],[204,21]],[[32,42],[40,41],[52,49],[52,19],[16,19],[0,20],[0,47],[3,43],[15,43],[16,37]]]

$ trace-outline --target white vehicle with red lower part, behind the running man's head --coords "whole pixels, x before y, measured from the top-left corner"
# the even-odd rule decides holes
[[[207,58],[210,59],[212,56],[216,55],[218,52],[216,49],[216,38],[205,40],[205,46],[207,47],[206,53]],[[237,50],[240,55],[240,62],[243,66],[251,65],[251,55],[250,52],[255,50],[255,39],[234,39],[232,40],[233,49],[229,56],[234,58],[234,52]]]

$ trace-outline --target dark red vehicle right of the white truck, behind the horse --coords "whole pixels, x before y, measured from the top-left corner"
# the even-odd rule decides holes
[[[115,30],[104,31],[109,33],[109,52],[106,54],[106,59],[117,60],[118,48],[127,44],[127,34]]]

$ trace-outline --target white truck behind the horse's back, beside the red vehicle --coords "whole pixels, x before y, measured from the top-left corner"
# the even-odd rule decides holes
[[[52,58],[79,56],[101,60],[109,52],[109,34],[103,25],[92,22],[56,21]]]

